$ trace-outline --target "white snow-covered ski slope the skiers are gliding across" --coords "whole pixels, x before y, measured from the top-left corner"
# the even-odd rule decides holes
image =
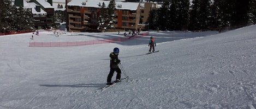
[[[57,37],[47,31],[34,35],[34,40],[31,33],[0,36],[0,108],[253,109],[255,30],[256,25],[220,34],[150,31],[148,36],[124,42],[73,47],[28,44],[123,36],[68,33]],[[151,36],[159,52],[145,55]],[[102,91],[110,69],[109,54],[115,47],[120,48],[130,79]]]

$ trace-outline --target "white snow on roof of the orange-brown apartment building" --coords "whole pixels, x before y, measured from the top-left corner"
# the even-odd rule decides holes
[[[86,5],[82,5],[82,3],[85,2]],[[69,6],[79,6],[79,7],[93,7],[93,8],[99,8],[99,3],[105,3],[106,7],[108,7],[110,1],[101,1],[101,0],[86,0],[86,1],[81,1],[81,0],[72,0],[71,2],[68,3]],[[122,10],[137,10],[138,6],[140,3],[135,3],[135,2],[116,2],[116,9],[122,9]],[[117,6],[122,6],[122,7],[117,7]]]

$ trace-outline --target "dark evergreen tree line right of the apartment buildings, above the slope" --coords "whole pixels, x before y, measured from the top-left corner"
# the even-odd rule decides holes
[[[148,23],[151,29],[209,30],[255,24],[255,16],[255,0],[165,0]]]

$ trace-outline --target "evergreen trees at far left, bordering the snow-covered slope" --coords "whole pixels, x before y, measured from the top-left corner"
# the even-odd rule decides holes
[[[0,1],[0,32],[21,31],[34,29],[33,15],[31,11],[16,8],[10,0]]]

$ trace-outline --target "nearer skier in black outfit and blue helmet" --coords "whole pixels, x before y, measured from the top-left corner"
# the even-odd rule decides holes
[[[118,59],[118,54],[119,54],[119,49],[114,48],[114,51],[110,53],[110,72],[108,75],[108,79],[106,80],[107,84],[106,85],[112,85],[113,83],[111,82],[112,76],[114,75],[114,72],[116,71],[116,81],[115,82],[120,82],[121,78],[121,69],[118,67],[118,63],[120,63],[120,60]]]

